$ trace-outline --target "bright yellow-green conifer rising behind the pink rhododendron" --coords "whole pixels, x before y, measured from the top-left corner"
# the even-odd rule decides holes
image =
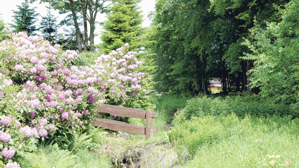
[[[100,48],[105,53],[130,44],[130,50],[137,51],[142,47],[140,35],[143,33],[141,23],[143,21],[140,0],[119,0],[113,4],[104,22]]]

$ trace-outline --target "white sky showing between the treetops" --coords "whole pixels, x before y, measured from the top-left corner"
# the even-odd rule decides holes
[[[22,2],[25,2],[25,0],[1,0],[1,5],[0,5],[0,18],[2,18],[5,22],[5,24],[8,23],[13,23],[13,13],[12,10],[17,10],[17,5],[21,5]],[[47,14],[47,9],[45,6],[48,4],[45,3],[39,3],[39,1],[34,2],[33,4],[30,4],[30,8],[36,7],[36,13],[39,13],[41,16],[46,16]],[[141,7],[141,10],[143,11],[143,27],[148,27],[150,26],[151,21],[147,18],[147,15],[149,14],[150,11],[154,11],[155,9],[155,0],[142,0],[139,3],[139,6]],[[58,18],[57,21],[60,22],[61,20],[64,19],[65,15],[59,15],[58,11],[53,11],[53,14]],[[38,21],[36,22],[36,25],[39,25],[41,16],[38,17]],[[105,14],[101,14],[97,16],[97,21],[98,22],[103,22],[105,20]],[[60,29],[59,32],[63,31]],[[99,34],[101,31],[101,26],[97,25],[95,33]],[[100,43],[100,37],[96,36],[95,37],[95,44]]]

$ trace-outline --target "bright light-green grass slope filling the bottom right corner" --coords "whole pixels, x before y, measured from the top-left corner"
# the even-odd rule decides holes
[[[298,128],[298,120],[281,125],[268,119],[240,120],[227,130],[231,136],[199,147],[184,167],[286,167],[286,162],[298,167]]]

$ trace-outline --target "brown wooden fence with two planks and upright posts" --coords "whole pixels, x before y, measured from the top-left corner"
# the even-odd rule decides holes
[[[157,113],[153,112],[153,109],[150,110],[139,110],[132,109],[127,107],[112,106],[103,104],[98,106],[98,112],[100,113],[109,113],[112,115],[131,117],[131,118],[140,118],[145,119],[146,126],[135,126],[129,123],[116,121],[112,119],[100,119],[96,118],[93,120],[95,126],[100,126],[101,128],[107,128],[114,131],[122,131],[127,133],[141,134],[145,135],[145,139],[150,137],[150,132],[153,129],[153,118],[157,118]]]

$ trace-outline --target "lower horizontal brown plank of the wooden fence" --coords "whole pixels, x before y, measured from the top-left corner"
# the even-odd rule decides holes
[[[145,135],[145,127],[143,126],[134,126],[132,124],[124,123],[121,121],[99,118],[96,118],[95,120],[93,120],[93,122],[95,123],[95,126],[100,126],[101,128]]]

